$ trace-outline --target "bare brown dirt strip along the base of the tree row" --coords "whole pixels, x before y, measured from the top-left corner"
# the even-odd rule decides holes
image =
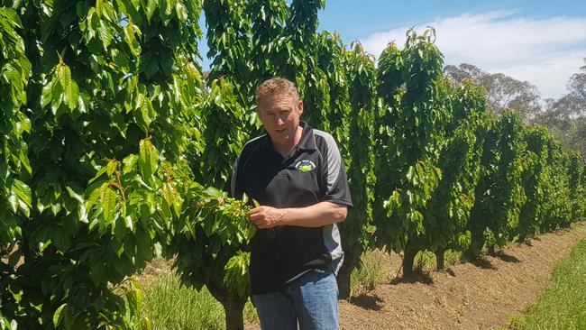
[[[340,301],[343,329],[493,329],[536,302],[557,261],[586,237],[586,225],[514,243],[498,256],[394,280]],[[391,256],[389,267],[400,259]],[[258,329],[259,325],[247,325]]]

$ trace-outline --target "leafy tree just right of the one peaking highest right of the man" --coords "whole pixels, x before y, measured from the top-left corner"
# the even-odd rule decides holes
[[[481,170],[483,137],[486,131],[486,99],[472,80],[460,86],[446,82],[445,140],[438,167],[442,178],[424,213],[426,248],[435,252],[438,270],[444,269],[447,249],[465,251],[471,243],[466,230],[474,203],[474,188]]]

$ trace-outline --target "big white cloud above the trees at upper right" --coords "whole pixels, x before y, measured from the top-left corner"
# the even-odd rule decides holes
[[[462,14],[416,26],[434,26],[436,44],[446,64],[473,64],[536,85],[545,97],[559,97],[568,78],[584,65],[586,17],[517,17],[515,11]],[[362,40],[365,50],[379,56],[389,41],[405,43],[409,26],[373,33]]]

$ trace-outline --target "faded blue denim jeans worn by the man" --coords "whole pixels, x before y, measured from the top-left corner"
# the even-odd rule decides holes
[[[311,270],[278,292],[252,295],[263,330],[335,330],[338,285],[332,270]]]

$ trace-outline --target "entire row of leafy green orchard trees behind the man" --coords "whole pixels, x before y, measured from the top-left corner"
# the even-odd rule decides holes
[[[0,329],[150,328],[132,275],[155,257],[242,328],[255,229],[222,189],[274,76],[343,153],[342,296],[371,247],[403,252],[408,274],[418,251],[441,267],[448,249],[472,259],[586,215],[581,155],[444,78],[433,30],[375,63],[316,32],[323,0],[2,4]]]

